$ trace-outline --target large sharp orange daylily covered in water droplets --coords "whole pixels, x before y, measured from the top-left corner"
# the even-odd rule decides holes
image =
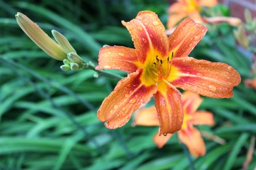
[[[134,41],[135,49],[106,46],[100,49],[96,69],[127,71],[98,109],[98,119],[109,129],[124,126],[132,113],[154,95],[160,135],[175,133],[182,127],[183,88],[207,97],[232,97],[239,73],[225,63],[212,63],[188,57],[207,28],[187,18],[167,37],[165,27],[154,12],[139,12],[130,22],[122,21]]]

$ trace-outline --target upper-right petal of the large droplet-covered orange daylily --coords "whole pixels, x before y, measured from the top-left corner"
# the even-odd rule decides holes
[[[188,56],[207,31],[206,27],[186,18],[169,36],[169,48],[174,57]]]

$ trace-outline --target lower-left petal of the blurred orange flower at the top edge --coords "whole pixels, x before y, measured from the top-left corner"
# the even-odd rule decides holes
[[[186,7],[184,6],[184,4],[180,2],[173,3],[173,5],[169,7],[167,28],[172,29],[178,22],[180,22],[186,16],[188,16],[188,14],[186,12]]]

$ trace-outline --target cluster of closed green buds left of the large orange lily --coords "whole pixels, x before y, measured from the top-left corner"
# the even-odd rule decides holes
[[[56,40],[54,41],[35,22],[20,12],[16,14],[16,20],[27,36],[46,54],[58,61],[63,61],[64,65],[61,65],[63,71],[77,70],[83,66],[83,59],[76,53],[64,35],[52,30]]]

